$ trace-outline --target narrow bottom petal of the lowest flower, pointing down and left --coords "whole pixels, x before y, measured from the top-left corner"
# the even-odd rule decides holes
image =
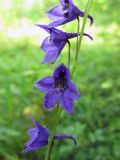
[[[36,143],[32,146],[28,146],[26,149],[24,149],[22,151],[22,153],[27,153],[27,152],[30,152],[30,151],[33,151],[33,150],[36,150],[38,148],[41,148],[41,147],[44,147],[46,146],[48,143],[47,142],[42,142],[42,143]]]

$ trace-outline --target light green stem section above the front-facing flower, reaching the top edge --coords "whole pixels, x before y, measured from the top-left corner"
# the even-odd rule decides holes
[[[77,30],[78,31],[77,33],[80,34],[80,37],[77,40],[77,44],[78,44],[77,48],[76,48],[77,52],[76,52],[76,56],[75,56],[75,64],[74,64],[74,67],[73,67],[73,70],[72,70],[72,73],[71,73],[71,77],[73,76],[74,71],[77,67],[78,56],[79,56],[79,53],[80,53],[80,48],[81,48],[81,43],[82,43],[82,37],[83,37],[84,30],[85,30],[85,25],[86,25],[86,21],[87,21],[88,13],[90,11],[91,4],[92,4],[92,0],[88,0],[86,10],[85,10],[85,13],[84,13],[84,19],[83,19],[81,32],[79,33],[79,31]],[[79,23],[79,21],[78,21],[78,23]],[[79,24],[78,24],[78,27],[79,27]]]

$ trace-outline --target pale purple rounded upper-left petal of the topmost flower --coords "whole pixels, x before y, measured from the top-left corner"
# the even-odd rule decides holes
[[[52,20],[60,20],[64,18],[65,11],[63,10],[62,5],[58,5],[52,9],[50,9],[46,15]]]

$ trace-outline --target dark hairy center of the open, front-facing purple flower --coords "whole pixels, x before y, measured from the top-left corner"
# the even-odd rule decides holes
[[[60,71],[59,76],[55,78],[55,88],[57,91],[64,91],[67,88],[66,72]]]

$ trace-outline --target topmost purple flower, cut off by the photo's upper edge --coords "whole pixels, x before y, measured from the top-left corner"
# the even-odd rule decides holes
[[[78,17],[84,16],[84,12],[79,10],[77,6],[74,5],[72,0],[60,0],[60,3],[61,4],[50,9],[46,13],[47,16],[53,20],[53,22],[50,23],[49,26],[56,27],[68,23],[70,21],[73,21]],[[92,25],[93,23],[92,16],[88,15],[88,18],[90,19],[90,24]]]

